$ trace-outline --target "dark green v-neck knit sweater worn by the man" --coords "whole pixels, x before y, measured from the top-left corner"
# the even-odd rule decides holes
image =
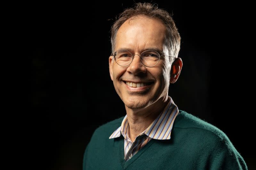
[[[247,169],[226,134],[179,110],[171,139],[151,139],[130,160],[124,160],[124,137],[109,139],[123,121],[118,118],[97,128],[84,152],[85,169]]]

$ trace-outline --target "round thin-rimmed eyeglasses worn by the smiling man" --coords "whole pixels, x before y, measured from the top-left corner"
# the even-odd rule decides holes
[[[114,56],[116,63],[123,67],[129,66],[132,63],[132,60],[135,55],[138,55],[140,57],[140,61],[144,66],[154,67],[156,66],[156,64],[158,64],[160,57],[162,57],[165,54],[160,55],[156,51],[146,50],[146,51],[143,51],[140,55],[139,54],[132,55],[132,53],[127,50],[117,50],[115,53],[112,53],[111,55]],[[173,57],[171,55],[165,55],[165,56]]]

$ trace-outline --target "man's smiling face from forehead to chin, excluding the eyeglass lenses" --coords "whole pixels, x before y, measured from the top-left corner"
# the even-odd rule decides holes
[[[165,25],[155,18],[137,16],[127,20],[117,32],[115,51],[128,49],[139,55],[149,48],[163,51],[165,30]],[[129,66],[122,67],[110,56],[109,71],[117,94],[128,108],[146,108],[168,95],[171,63],[163,58],[156,66],[146,67],[135,55]]]

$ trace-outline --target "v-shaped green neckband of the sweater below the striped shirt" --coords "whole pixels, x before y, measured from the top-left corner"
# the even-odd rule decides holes
[[[129,165],[131,165],[140,155],[147,150],[149,146],[151,146],[156,139],[151,139],[143,148],[141,148],[135,155],[132,156],[131,159],[125,160],[124,159],[124,138],[120,139],[119,142],[119,159],[123,169],[126,169]]]

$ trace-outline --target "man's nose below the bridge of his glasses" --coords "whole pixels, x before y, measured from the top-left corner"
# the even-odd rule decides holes
[[[146,66],[144,66],[140,61],[140,55],[135,54],[133,56],[132,63],[128,66],[127,71],[131,74],[137,75],[141,73],[146,73]]]

